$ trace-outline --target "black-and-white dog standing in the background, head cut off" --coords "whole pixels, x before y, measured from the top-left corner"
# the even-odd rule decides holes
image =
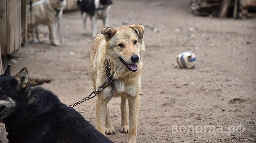
[[[77,0],[77,4],[81,9],[85,32],[88,16],[92,21],[92,37],[97,34],[97,19],[102,19],[104,27],[107,27],[112,0]]]

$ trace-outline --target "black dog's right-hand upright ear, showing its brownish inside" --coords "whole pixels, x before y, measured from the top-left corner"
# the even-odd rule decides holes
[[[14,79],[17,81],[17,89],[24,89],[27,87],[28,85],[28,69],[27,68],[23,68],[21,69],[20,72],[18,72],[18,74],[16,74],[16,76],[14,76]]]

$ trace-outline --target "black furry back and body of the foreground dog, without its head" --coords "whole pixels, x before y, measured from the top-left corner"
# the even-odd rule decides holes
[[[30,90],[21,109],[6,121],[9,143],[112,143],[81,114],[40,87]]]

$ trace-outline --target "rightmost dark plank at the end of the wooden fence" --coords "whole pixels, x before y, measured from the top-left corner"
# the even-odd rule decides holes
[[[21,0],[21,43],[25,43],[27,41],[27,30],[27,0]]]

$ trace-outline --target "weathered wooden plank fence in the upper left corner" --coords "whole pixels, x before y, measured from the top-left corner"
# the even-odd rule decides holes
[[[0,0],[2,55],[12,54],[26,40],[26,0]]]

